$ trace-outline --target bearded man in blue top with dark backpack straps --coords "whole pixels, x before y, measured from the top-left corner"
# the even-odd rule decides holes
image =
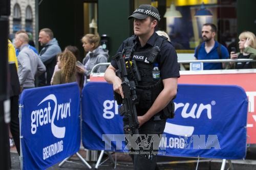
[[[213,23],[205,23],[202,28],[203,43],[195,50],[198,60],[229,59],[228,50],[215,40],[217,27]],[[204,70],[222,69],[224,63],[204,63]]]

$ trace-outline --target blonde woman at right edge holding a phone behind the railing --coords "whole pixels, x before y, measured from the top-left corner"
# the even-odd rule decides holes
[[[245,31],[239,35],[240,53],[231,52],[230,59],[256,59],[256,37],[252,32]],[[256,68],[256,62],[230,62],[231,68]]]

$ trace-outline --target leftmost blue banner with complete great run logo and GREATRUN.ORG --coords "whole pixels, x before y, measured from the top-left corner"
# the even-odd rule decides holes
[[[24,90],[19,104],[23,169],[46,169],[79,150],[77,83]]]

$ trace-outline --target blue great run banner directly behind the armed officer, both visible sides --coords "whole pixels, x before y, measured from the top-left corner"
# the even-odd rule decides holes
[[[114,101],[113,86],[90,82],[82,94],[84,147],[122,152],[125,148],[121,135],[123,124]],[[167,119],[158,154],[245,158],[247,107],[246,93],[239,86],[178,85],[175,118]]]

